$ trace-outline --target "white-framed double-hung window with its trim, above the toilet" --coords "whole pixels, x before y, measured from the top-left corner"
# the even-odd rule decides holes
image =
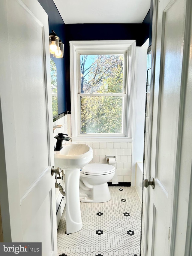
[[[70,42],[73,141],[131,141],[134,59],[135,41]]]

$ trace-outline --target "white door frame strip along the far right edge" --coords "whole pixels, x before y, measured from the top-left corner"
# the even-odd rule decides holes
[[[190,73],[192,72],[191,65],[191,47],[192,47],[192,2],[186,1],[186,13],[185,13],[185,34],[184,34],[184,50],[183,50],[183,64],[182,64],[182,79],[181,79],[181,95],[180,95],[180,109],[179,109],[179,128],[178,128],[178,142],[177,142],[177,157],[176,157],[176,174],[175,174],[175,187],[173,198],[173,220],[172,220],[172,235],[170,245],[170,256],[177,254],[177,243],[182,237],[179,237],[179,233],[184,233],[183,251],[185,256],[192,255],[192,147],[190,146],[188,154],[186,152],[185,136],[186,131],[188,135],[188,142],[192,140],[192,133],[189,131],[189,125],[191,127],[191,119],[187,109],[189,105],[188,97],[191,96],[192,79]],[[191,98],[190,98],[191,101]],[[191,144],[191,143],[190,143]],[[184,153],[185,152],[185,153]],[[190,172],[184,173],[184,163],[189,155]],[[187,168],[187,167],[186,167]],[[185,182],[186,181],[186,182]],[[184,190],[185,187],[185,190]],[[184,196],[187,195],[187,198]],[[187,205],[181,205],[182,200],[188,200]],[[186,218],[186,226],[183,224],[183,220],[179,218],[182,212],[182,216]],[[184,215],[185,212],[185,215]],[[187,214],[188,212],[188,214]],[[181,224],[182,222],[182,224]],[[178,232],[179,231],[179,232]],[[184,248],[185,246],[185,248]]]

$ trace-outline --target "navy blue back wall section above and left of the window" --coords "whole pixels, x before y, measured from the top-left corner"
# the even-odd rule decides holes
[[[70,110],[69,41],[73,40],[136,40],[142,46],[149,38],[149,23],[140,24],[65,24],[66,94]]]

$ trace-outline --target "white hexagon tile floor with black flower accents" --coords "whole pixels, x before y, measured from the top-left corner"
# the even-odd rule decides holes
[[[109,187],[111,200],[81,203],[83,227],[66,232],[65,209],[57,230],[60,256],[139,256],[141,202],[134,187]]]

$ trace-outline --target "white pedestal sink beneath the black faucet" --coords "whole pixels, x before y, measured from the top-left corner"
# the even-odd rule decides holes
[[[66,195],[66,233],[82,229],[79,201],[80,169],[93,158],[93,150],[86,144],[64,144],[60,151],[55,151],[55,168],[65,170]]]

